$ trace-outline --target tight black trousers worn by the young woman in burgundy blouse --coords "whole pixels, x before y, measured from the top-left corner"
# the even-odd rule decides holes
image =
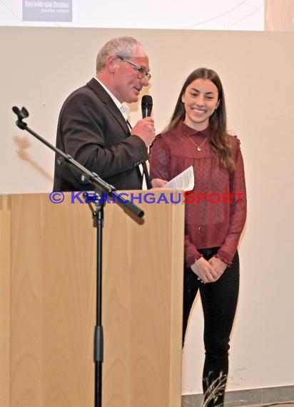
[[[208,260],[218,248],[200,250]],[[239,292],[238,251],[233,264],[227,267],[215,283],[201,283],[191,268],[184,271],[183,341],[193,301],[200,290],[204,314],[204,346],[206,358],[203,368],[203,393],[207,407],[223,406],[225,383],[228,376],[228,349],[230,331],[235,317]],[[213,388],[215,389],[214,393]],[[210,401],[208,402],[208,398]]]

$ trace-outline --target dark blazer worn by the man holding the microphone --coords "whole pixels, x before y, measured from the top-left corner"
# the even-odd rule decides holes
[[[56,147],[116,189],[141,189],[138,164],[148,159],[145,143],[130,136],[128,125],[108,93],[91,79],[74,91],[59,114]],[[54,191],[93,191],[81,174],[59,164],[56,154]]]

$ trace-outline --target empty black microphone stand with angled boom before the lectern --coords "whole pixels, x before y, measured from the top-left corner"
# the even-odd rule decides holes
[[[102,363],[103,363],[103,326],[102,326],[102,231],[103,231],[103,208],[105,206],[105,199],[101,192],[107,194],[113,198],[116,196],[116,203],[122,205],[123,208],[126,208],[127,211],[130,211],[137,218],[142,218],[144,212],[141,208],[138,208],[135,204],[132,204],[130,201],[127,201],[122,196],[118,196],[114,186],[108,184],[106,181],[103,181],[97,174],[94,172],[88,171],[84,166],[74,160],[69,154],[64,153],[57,149],[55,146],[50,144],[48,141],[43,139],[43,137],[36,134],[35,131],[31,130],[23,119],[29,117],[29,112],[25,107],[22,107],[19,110],[18,107],[14,106],[12,108],[14,113],[17,115],[16,126],[21,130],[26,130],[30,134],[39,139],[43,144],[45,144],[49,149],[54,150],[59,154],[59,163],[62,165],[64,162],[70,164],[75,169],[81,172],[83,177],[86,177],[88,182],[95,186],[95,196],[92,194],[84,193],[86,197],[86,203],[91,208],[91,213],[93,217],[93,226],[97,229],[97,252],[96,252],[96,326],[94,331],[94,363],[95,363],[95,407],[101,407],[102,403]],[[94,199],[93,199],[94,198]],[[96,204],[96,208],[93,208],[91,201]]]

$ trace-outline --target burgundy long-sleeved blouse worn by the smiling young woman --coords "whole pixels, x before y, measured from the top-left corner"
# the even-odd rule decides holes
[[[185,260],[188,267],[202,256],[198,249],[211,247],[219,247],[216,256],[230,265],[246,218],[240,142],[237,137],[230,136],[236,162],[235,171],[230,173],[218,164],[209,136],[209,128],[196,131],[181,123],[157,136],[151,146],[152,179],[169,181],[189,166],[194,169],[195,186],[193,192],[186,195],[185,208]],[[201,151],[191,140],[198,146],[203,143]]]

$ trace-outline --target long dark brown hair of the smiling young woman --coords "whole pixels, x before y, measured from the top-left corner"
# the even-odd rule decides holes
[[[228,171],[233,172],[235,170],[235,160],[233,159],[232,146],[230,145],[230,137],[227,133],[227,116],[225,111],[225,97],[223,95],[223,85],[220,82],[218,74],[212,69],[198,68],[186,79],[181,89],[181,93],[178,96],[176,108],[173,111],[171,122],[168,124],[166,131],[174,129],[181,121],[185,120],[186,110],[182,101],[182,96],[185,93],[187,87],[196,79],[209,79],[218,88],[218,108],[209,118],[209,126],[211,128],[211,146],[213,152],[216,153],[218,161],[221,166]]]

